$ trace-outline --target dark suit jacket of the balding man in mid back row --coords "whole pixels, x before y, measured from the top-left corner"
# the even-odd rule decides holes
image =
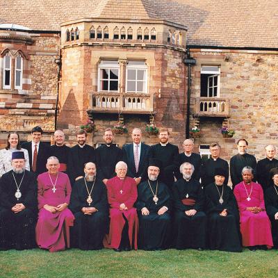
[[[122,146],[124,152],[123,161],[127,164],[127,176],[131,178],[141,177],[141,181],[147,179],[147,167],[149,163],[149,145],[141,143],[141,152],[138,172],[136,173],[136,167],[133,154],[133,143]]]

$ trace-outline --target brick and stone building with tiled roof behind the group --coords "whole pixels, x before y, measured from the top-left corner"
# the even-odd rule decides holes
[[[277,12],[275,0],[7,0],[0,143],[11,130],[27,140],[39,124],[45,140],[56,125],[72,144],[90,117],[95,145],[119,120],[129,131],[154,120],[179,147],[199,126],[196,151],[206,155],[219,142],[229,159],[245,137],[262,158],[278,137]],[[233,138],[219,133],[223,124]],[[129,134],[116,142],[130,142]]]

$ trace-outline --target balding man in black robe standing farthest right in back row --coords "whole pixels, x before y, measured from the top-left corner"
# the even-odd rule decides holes
[[[268,145],[265,147],[265,158],[258,161],[256,166],[257,181],[261,184],[263,192],[272,186],[273,181],[270,177],[270,170],[272,168],[278,167],[278,160],[275,159],[276,147],[273,145]]]

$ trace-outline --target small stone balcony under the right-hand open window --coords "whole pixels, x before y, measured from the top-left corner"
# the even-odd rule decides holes
[[[199,97],[196,99],[195,115],[198,117],[229,117],[229,99]]]

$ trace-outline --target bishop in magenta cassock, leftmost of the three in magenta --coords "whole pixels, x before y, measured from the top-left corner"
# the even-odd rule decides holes
[[[70,226],[74,215],[67,208],[70,203],[70,179],[67,174],[58,172],[58,158],[47,159],[48,172],[38,176],[38,223],[35,228],[37,244],[50,252],[70,247]]]

